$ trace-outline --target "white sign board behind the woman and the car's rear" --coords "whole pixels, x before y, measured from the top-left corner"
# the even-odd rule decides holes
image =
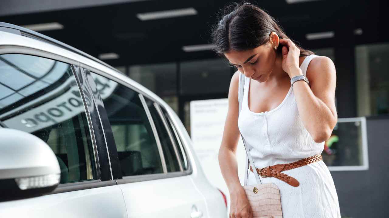
[[[203,171],[212,185],[222,190],[230,211],[230,193],[219,166],[219,148],[228,111],[228,99],[190,102],[191,138]],[[240,139],[237,148],[238,176],[244,184],[246,152]]]

